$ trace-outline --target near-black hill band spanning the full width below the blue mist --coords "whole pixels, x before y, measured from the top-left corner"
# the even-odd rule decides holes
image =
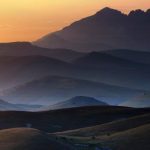
[[[43,112],[2,111],[0,129],[27,127],[49,133],[100,125],[150,113],[149,108],[117,106],[79,107]]]

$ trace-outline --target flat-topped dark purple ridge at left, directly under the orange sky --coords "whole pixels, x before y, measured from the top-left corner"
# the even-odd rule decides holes
[[[69,49],[47,49],[35,46],[29,42],[0,43],[0,57],[2,56],[46,56],[62,61],[71,61],[83,56],[84,53]]]

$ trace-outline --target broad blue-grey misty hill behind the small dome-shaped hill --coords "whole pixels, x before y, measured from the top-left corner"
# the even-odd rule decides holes
[[[13,103],[51,105],[77,95],[85,95],[109,104],[119,104],[143,92],[88,80],[47,76],[3,90],[0,97]]]

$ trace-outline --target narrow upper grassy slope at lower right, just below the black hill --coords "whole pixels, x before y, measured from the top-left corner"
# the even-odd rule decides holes
[[[106,124],[97,125],[93,127],[60,132],[57,133],[57,135],[67,135],[67,136],[77,136],[77,137],[78,136],[79,137],[102,136],[102,135],[125,131],[148,123],[150,123],[150,114],[145,114],[145,115],[131,117],[129,119],[123,119],[119,121],[113,121],[113,122],[109,122]]]

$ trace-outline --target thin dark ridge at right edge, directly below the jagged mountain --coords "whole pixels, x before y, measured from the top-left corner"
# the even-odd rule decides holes
[[[117,49],[104,51],[106,54],[110,54],[115,57],[122,59],[134,61],[137,63],[150,64],[150,52],[127,50],[127,49]]]

